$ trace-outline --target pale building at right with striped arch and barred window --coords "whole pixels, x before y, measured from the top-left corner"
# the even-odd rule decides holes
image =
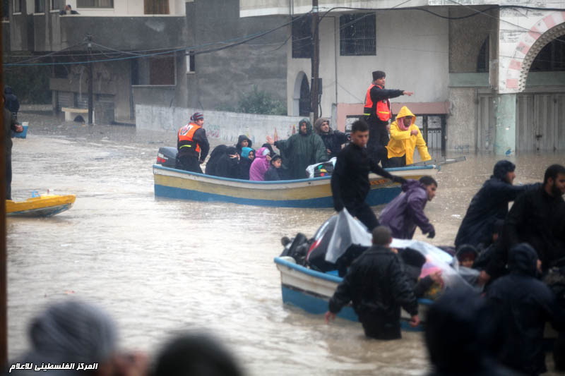
[[[241,0],[242,18],[291,15],[289,115],[308,111],[310,0]],[[319,0],[322,116],[362,114],[371,71],[419,116],[429,147],[565,150],[565,1]],[[302,18],[300,18],[302,16]],[[302,110],[302,111],[301,111]]]

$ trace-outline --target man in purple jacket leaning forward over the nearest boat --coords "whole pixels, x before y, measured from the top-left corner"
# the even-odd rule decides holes
[[[424,214],[428,202],[426,186],[420,181],[409,179],[402,185],[403,193],[396,196],[381,212],[381,224],[388,226],[393,238],[411,239],[416,226],[427,234],[434,231],[434,226]]]

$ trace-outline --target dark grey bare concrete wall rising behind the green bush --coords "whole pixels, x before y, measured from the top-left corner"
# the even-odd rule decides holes
[[[238,1],[225,0],[187,3],[186,15],[188,45],[214,43],[208,48],[222,47],[226,44],[219,41],[237,42],[240,39],[236,38],[288,22],[284,16],[239,18]],[[282,28],[237,47],[196,55],[196,73],[185,73],[189,91],[186,105],[205,110],[235,107],[239,98],[255,85],[284,101],[286,39],[286,30]],[[198,51],[203,49],[207,48]]]

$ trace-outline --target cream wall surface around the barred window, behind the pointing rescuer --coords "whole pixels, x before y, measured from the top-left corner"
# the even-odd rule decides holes
[[[446,8],[434,11],[447,15]],[[403,25],[407,19],[410,19],[409,28],[394,26]],[[339,16],[324,18],[320,27],[319,76],[323,80],[323,114],[331,114],[333,103],[364,102],[367,87],[372,81],[371,72],[376,70],[386,72],[386,87],[415,92],[412,97],[399,97],[393,102],[446,101],[447,20],[417,11],[377,13],[376,56],[340,56],[339,27]],[[287,55],[288,113],[296,115],[297,102],[293,99],[297,77],[304,72],[310,78],[311,63],[310,59],[292,59],[291,43],[287,46]]]

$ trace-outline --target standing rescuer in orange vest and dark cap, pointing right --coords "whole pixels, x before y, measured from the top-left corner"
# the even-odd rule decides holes
[[[373,72],[373,82],[367,89],[363,115],[369,124],[369,143],[367,151],[376,163],[386,160],[388,145],[388,120],[391,119],[391,101],[400,95],[413,95],[405,90],[387,90],[384,88],[386,74],[383,71]]]

